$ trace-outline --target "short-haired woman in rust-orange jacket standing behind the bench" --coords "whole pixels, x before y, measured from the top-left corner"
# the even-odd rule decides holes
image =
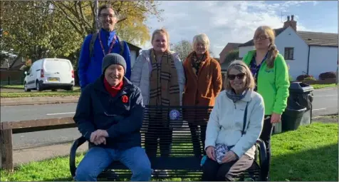
[[[184,61],[186,84],[182,96],[182,105],[214,106],[214,98],[217,97],[222,86],[220,64],[209,56],[209,38],[206,34],[194,36],[193,49],[194,51]],[[207,109],[197,108],[194,112],[189,110],[188,108],[184,109],[184,120],[189,123],[194,155],[202,157],[209,114]],[[201,138],[197,134],[199,130]],[[202,146],[200,146],[200,142],[202,142]]]

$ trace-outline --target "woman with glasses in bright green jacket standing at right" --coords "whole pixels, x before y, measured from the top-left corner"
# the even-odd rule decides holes
[[[290,86],[288,68],[285,59],[276,49],[275,38],[274,31],[270,27],[259,26],[253,39],[256,50],[249,51],[243,59],[256,81],[254,91],[264,98],[265,117],[260,138],[265,142],[268,153],[268,168],[263,168],[267,175],[271,159],[272,124],[281,121],[281,114],[287,106]]]

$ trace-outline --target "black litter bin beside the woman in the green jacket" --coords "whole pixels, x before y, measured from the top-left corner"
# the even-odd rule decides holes
[[[311,123],[313,90],[302,82],[291,83],[287,107],[281,116],[282,131],[296,130],[300,125]]]

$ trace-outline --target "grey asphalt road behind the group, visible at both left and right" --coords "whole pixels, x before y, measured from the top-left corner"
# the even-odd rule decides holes
[[[313,117],[338,113],[338,89],[315,90]],[[57,118],[73,116],[76,103],[63,103],[33,106],[1,106],[1,121],[21,121],[38,118]],[[78,138],[77,128],[53,131],[38,131],[14,134],[14,148],[35,146],[43,143],[71,141]]]

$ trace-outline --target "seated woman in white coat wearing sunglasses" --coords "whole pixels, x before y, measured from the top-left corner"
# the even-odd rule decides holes
[[[264,123],[264,100],[254,86],[246,64],[233,61],[207,123],[202,181],[231,181],[254,162]]]

